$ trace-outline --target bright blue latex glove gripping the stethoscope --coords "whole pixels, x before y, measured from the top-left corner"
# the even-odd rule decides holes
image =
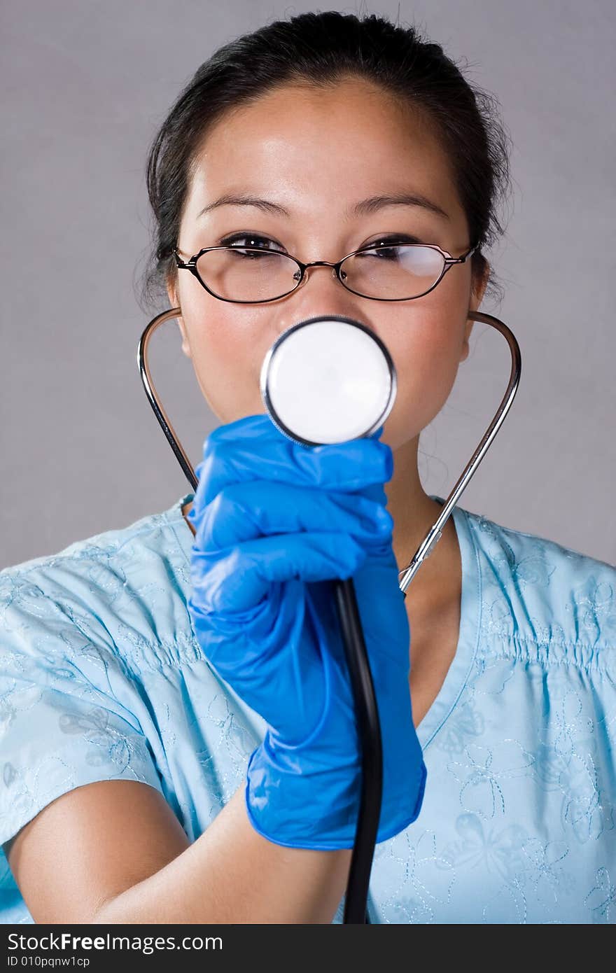
[[[269,414],[219,426],[196,474],[188,607],[219,674],[268,723],[245,801],[277,845],[353,847],[361,748],[332,580],[352,577],[380,715],[377,841],[417,818],[425,765],[409,691],[410,631],[371,438],[307,447]]]

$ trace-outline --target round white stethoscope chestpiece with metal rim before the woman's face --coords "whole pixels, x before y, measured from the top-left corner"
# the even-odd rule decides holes
[[[387,348],[350,317],[310,317],[287,328],[261,368],[273,423],[306,446],[370,436],[391,412],[396,371]]]

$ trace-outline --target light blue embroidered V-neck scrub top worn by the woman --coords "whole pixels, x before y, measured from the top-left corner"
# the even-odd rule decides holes
[[[0,572],[0,844],[108,779],[156,787],[195,841],[244,780],[266,724],[191,628],[192,497]],[[461,508],[453,523],[459,641],[370,919],[613,923],[616,568]],[[0,917],[33,921],[4,853]]]

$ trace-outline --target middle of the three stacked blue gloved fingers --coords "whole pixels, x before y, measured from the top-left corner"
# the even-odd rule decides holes
[[[226,486],[205,507],[195,547],[206,553],[264,535],[321,530],[372,540],[392,529],[393,518],[383,504],[361,494],[252,480]]]

